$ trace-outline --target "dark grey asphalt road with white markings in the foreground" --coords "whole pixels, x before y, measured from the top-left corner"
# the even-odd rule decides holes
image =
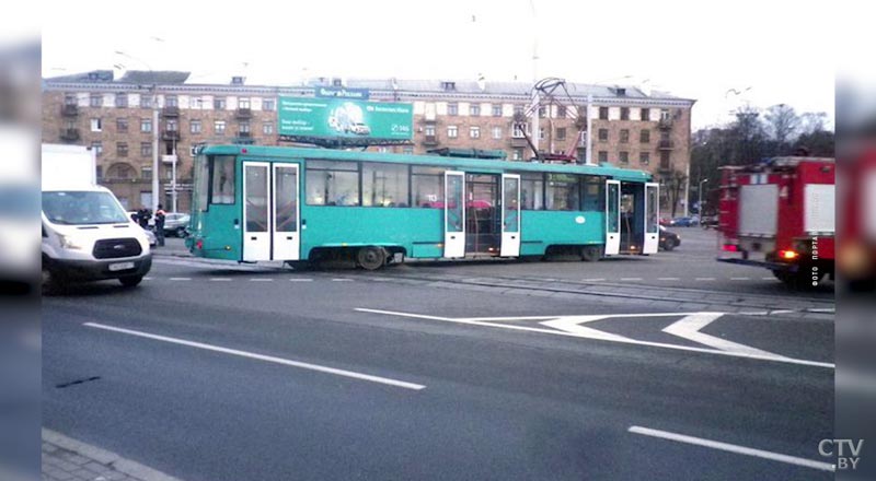
[[[685,241],[615,263],[380,275],[157,259],[137,289],[44,300],[44,425],[189,481],[832,479],[818,455],[833,431],[832,316],[781,309],[827,292],[771,281],[773,313],[740,315],[411,279],[685,288],[649,278],[681,277],[667,270],[679,256],[727,278],[691,288],[762,293],[730,280],[738,267],[696,266],[694,247],[684,261]]]

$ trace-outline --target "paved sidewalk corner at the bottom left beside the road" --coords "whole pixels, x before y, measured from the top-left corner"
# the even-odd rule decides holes
[[[43,481],[180,481],[60,433],[43,429]]]

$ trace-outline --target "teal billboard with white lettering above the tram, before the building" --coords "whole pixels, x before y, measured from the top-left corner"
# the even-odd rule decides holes
[[[290,137],[411,140],[411,104],[280,97],[278,132]]]

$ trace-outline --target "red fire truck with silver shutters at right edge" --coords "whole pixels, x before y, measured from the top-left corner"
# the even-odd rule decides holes
[[[718,260],[766,268],[793,286],[832,279],[835,167],[822,157],[724,167]]]

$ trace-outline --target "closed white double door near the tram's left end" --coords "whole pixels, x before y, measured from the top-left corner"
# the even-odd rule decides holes
[[[243,163],[243,260],[298,260],[298,165]]]

